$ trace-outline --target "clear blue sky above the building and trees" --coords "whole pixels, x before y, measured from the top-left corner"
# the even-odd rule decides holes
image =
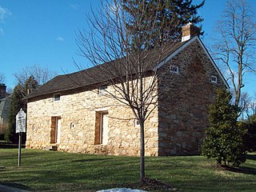
[[[86,28],[86,14],[90,6],[100,0],[0,0],[0,74],[6,77],[6,86],[14,87],[14,73],[25,66],[46,66],[58,74],[77,70],[73,58],[86,62],[76,52],[75,32]],[[194,3],[201,0],[194,0]],[[224,0],[206,0],[198,12],[209,45],[214,24],[220,19]],[[249,0],[254,8],[255,0]],[[256,76],[246,79],[246,90],[253,94]]]

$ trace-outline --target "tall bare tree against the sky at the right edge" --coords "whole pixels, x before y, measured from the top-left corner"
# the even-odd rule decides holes
[[[215,31],[215,58],[223,66],[239,106],[245,74],[256,71],[254,50],[256,22],[246,0],[228,0]]]

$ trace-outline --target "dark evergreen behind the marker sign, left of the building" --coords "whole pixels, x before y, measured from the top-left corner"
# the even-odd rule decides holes
[[[24,84],[18,84],[14,87],[14,91],[10,96],[10,116],[8,129],[6,130],[5,140],[7,142],[18,142],[18,134],[16,134],[16,114],[22,108],[26,112],[26,101],[22,100],[26,96],[27,90],[33,90],[38,87],[38,82],[34,79],[33,76],[30,76],[24,82]],[[22,143],[26,141],[26,137],[22,138]]]

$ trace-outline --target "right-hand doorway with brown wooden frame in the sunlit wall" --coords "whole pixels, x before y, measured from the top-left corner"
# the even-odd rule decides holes
[[[96,112],[95,121],[95,145],[106,145],[108,142],[108,113],[106,111]]]

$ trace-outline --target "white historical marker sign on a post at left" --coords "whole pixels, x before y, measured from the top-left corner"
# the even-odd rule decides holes
[[[18,166],[21,166],[22,133],[26,133],[26,113],[21,109],[16,115],[16,134],[18,134]]]

